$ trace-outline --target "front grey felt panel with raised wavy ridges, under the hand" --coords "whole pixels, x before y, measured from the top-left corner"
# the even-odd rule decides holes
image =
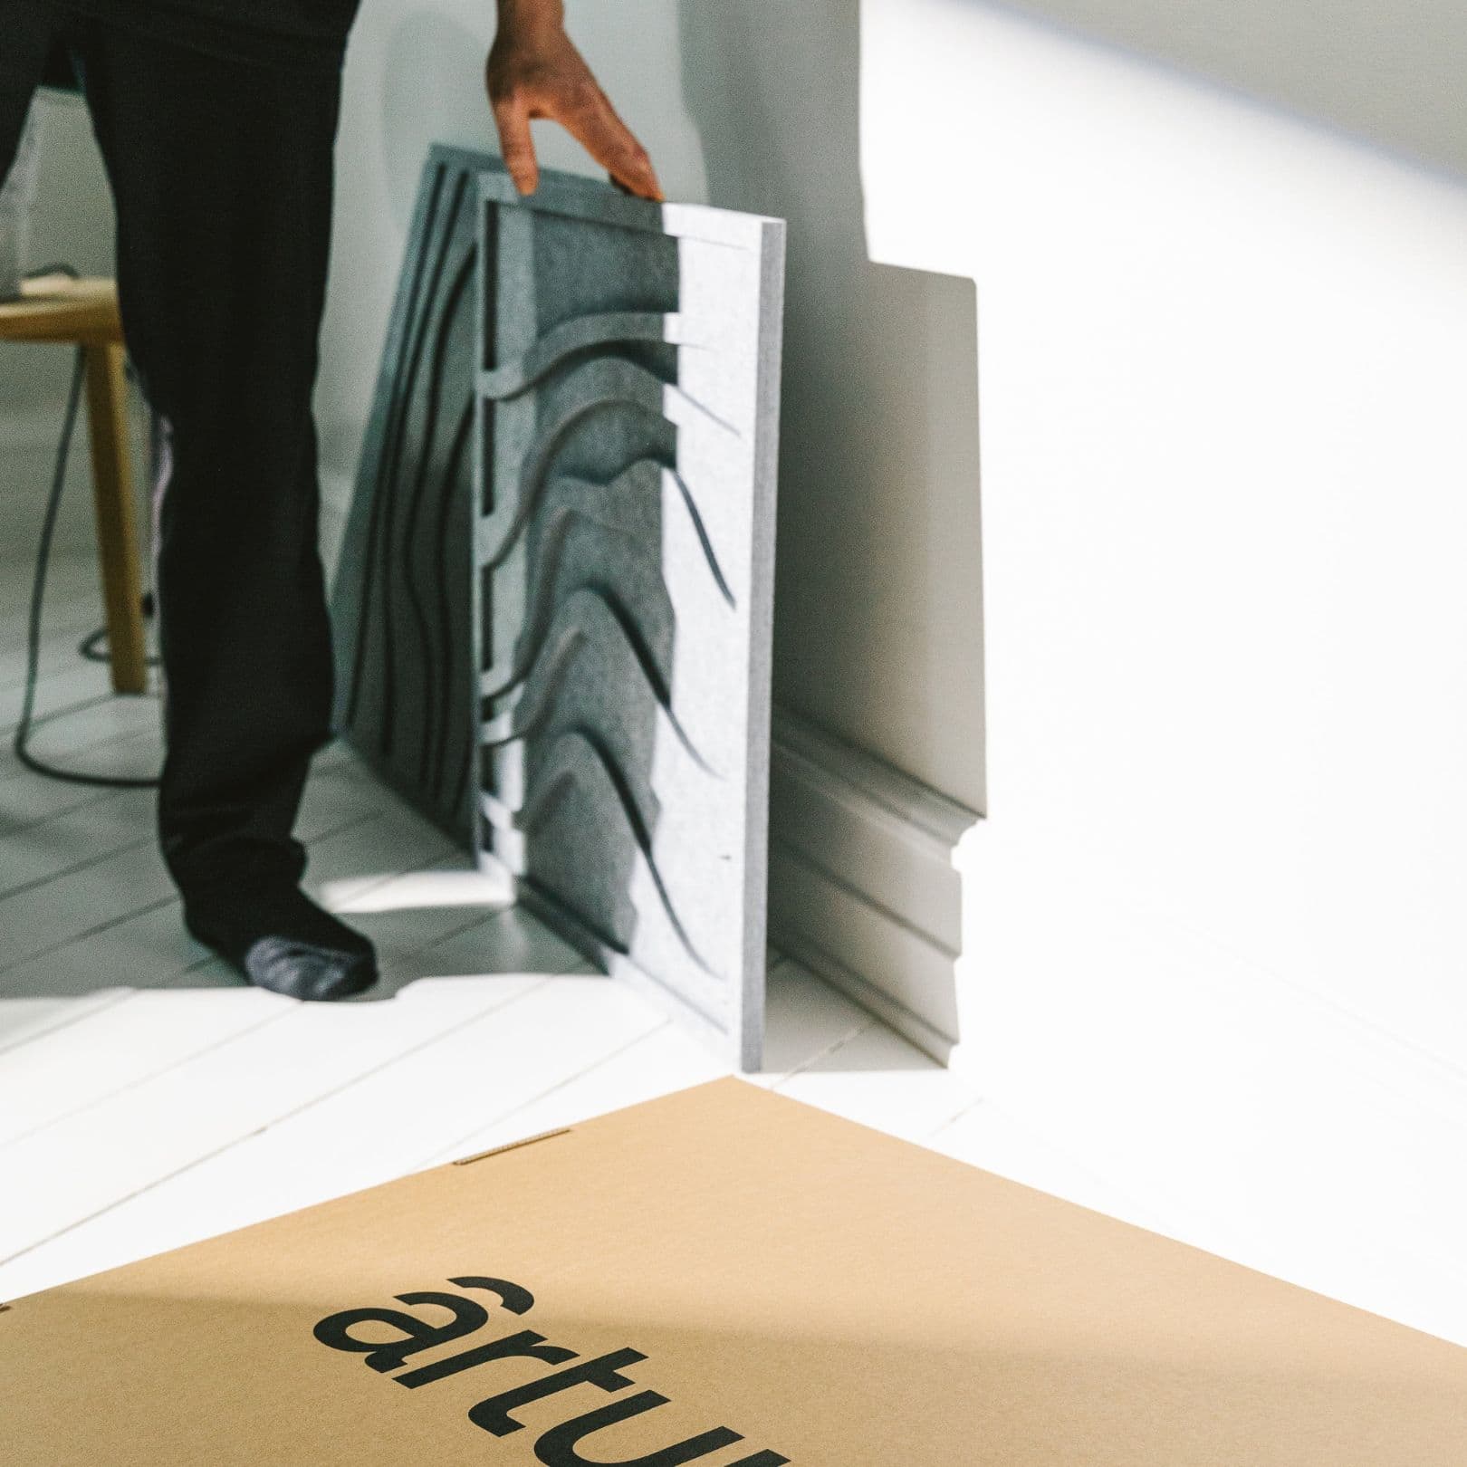
[[[783,226],[497,170],[478,222],[480,845],[754,1068]]]

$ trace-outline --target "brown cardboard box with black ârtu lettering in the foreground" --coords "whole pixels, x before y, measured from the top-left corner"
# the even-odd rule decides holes
[[[1467,1351],[729,1080],[15,1303],[0,1458],[1461,1467]]]

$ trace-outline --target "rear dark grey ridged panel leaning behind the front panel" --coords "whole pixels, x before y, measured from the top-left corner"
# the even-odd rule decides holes
[[[478,173],[422,172],[333,599],[336,722],[389,785],[471,848]]]

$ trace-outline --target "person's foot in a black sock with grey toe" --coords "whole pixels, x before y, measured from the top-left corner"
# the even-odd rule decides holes
[[[183,926],[271,993],[330,1002],[377,981],[373,945],[295,886],[185,895]]]

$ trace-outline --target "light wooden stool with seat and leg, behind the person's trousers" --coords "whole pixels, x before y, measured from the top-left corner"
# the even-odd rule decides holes
[[[111,685],[117,692],[145,692],[148,656],[132,461],[128,456],[128,381],[117,288],[111,280],[72,280],[67,276],[28,280],[19,301],[0,302],[0,340],[85,349],[97,550],[107,609]]]

